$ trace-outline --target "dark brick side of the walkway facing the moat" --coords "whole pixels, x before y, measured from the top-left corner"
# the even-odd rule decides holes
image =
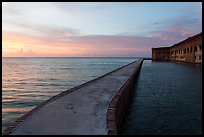
[[[109,135],[117,135],[120,130],[120,126],[125,116],[126,109],[128,107],[129,101],[131,100],[133,87],[142,67],[142,63],[143,60],[140,60],[135,72],[116,93],[108,106],[107,129]]]

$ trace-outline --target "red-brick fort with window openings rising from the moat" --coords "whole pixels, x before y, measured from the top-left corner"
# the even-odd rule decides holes
[[[202,32],[170,47],[152,48],[152,60],[202,64]]]

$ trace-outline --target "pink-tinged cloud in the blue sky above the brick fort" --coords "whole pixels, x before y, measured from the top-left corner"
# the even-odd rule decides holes
[[[202,31],[202,17],[188,16],[187,13],[174,19],[164,22],[163,28],[160,27],[155,31],[151,31],[153,37],[157,37],[163,41],[172,41],[172,43],[180,42],[187,37],[200,33]]]

